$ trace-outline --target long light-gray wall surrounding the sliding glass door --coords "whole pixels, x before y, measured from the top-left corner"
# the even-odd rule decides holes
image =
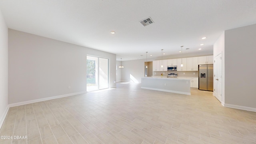
[[[116,54],[9,29],[9,104],[86,92],[87,54],[110,58],[116,87]]]

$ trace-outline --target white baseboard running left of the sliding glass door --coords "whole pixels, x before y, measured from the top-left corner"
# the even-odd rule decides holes
[[[63,97],[67,97],[67,96],[74,96],[74,95],[77,95],[77,94],[84,94],[86,93],[85,91],[83,92],[75,92],[75,93],[71,93],[71,94],[63,94],[63,95],[60,95],[60,96],[52,96],[52,97],[48,97],[48,98],[40,98],[40,99],[36,99],[36,100],[29,100],[29,101],[25,101],[25,102],[18,102],[18,103],[14,103],[14,104],[8,104],[9,108],[10,107],[14,107],[14,106],[21,106],[21,105],[24,105],[24,104],[32,104],[32,103],[35,103],[35,102],[42,102],[42,101],[45,101],[45,100],[53,100],[53,99],[56,99],[56,98],[63,98]]]

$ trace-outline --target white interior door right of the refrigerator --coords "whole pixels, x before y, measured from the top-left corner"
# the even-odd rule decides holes
[[[214,58],[214,96],[222,102],[222,54]]]

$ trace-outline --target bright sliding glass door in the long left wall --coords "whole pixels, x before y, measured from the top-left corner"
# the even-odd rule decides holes
[[[87,91],[109,88],[109,60],[87,56]]]

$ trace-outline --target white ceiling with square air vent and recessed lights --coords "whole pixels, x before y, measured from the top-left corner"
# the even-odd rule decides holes
[[[117,60],[143,59],[146,52],[161,57],[161,49],[180,57],[182,45],[183,56],[210,55],[224,30],[256,23],[256,0],[0,0],[0,9],[8,28]],[[154,24],[144,27],[140,21],[148,17]]]

